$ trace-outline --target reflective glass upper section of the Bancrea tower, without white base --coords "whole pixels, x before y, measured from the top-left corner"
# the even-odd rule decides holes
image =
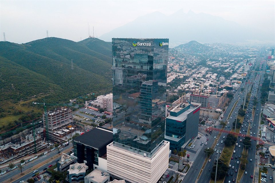
[[[164,140],[168,41],[112,39],[114,146],[149,157]]]

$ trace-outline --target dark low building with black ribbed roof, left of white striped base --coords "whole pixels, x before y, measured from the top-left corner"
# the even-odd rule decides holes
[[[106,146],[113,142],[113,132],[94,128],[74,139],[74,156],[78,163],[86,162],[89,169],[98,165],[98,158],[107,152]]]

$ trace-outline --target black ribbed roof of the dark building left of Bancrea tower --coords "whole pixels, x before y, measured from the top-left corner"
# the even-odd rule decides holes
[[[76,137],[74,142],[99,149],[113,142],[113,132],[101,128],[93,128],[89,132],[85,132],[83,135]]]

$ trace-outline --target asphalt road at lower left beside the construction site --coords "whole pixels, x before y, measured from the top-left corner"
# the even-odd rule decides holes
[[[43,172],[43,169],[44,169],[44,168],[48,167],[49,165],[54,165],[54,164],[56,164],[55,161],[56,161],[57,159],[60,159],[62,152],[63,152],[64,150],[66,150],[66,149],[72,149],[72,143],[70,143],[70,144],[69,144],[68,146],[66,146],[66,147],[63,147],[63,150],[61,151],[60,156],[58,156],[58,158],[52,159],[50,162],[44,164],[43,166],[39,167],[39,168],[36,169],[36,170],[38,170],[38,172]],[[48,154],[45,154],[44,156],[41,156],[41,157],[39,157],[39,158],[37,158],[37,159],[35,159],[35,160],[32,160],[31,162],[28,162],[27,164],[23,165],[22,171],[24,172],[25,170],[27,170],[27,169],[29,169],[29,168],[32,169],[33,166],[35,166],[35,165],[37,165],[37,164],[39,164],[39,163],[41,163],[41,162],[43,162],[43,161],[45,161],[45,160],[50,159],[50,157],[52,157],[52,156],[55,156],[55,155],[57,154],[57,152],[58,152],[58,149],[53,150],[52,152],[50,152],[50,153],[48,153]],[[25,174],[25,175],[22,176],[21,178],[19,178],[19,179],[17,179],[17,180],[12,180],[12,181],[10,181],[10,182],[12,182],[12,183],[18,183],[18,182],[21,181],[21,180],[24,180],[24,182],[26,182],[27,179],[32,178],[32,174],[33,174],[32,171],[34,171],[34,170],[32,169],[30,172],[28,172],[27,174]],[[10,171],[10,172],[8,172],[8,173],[2,175],[0,181],[1,181],[1,182],[5,182],[5,181],[6,181],[6,182],[9,182],[9,181],[7,181],[7,180],[10,180],[11,178],[13,178],[13,176],[15,176],[15,175],[17,175],[17,174],[21,174],[21,171],[20,171],[18,168],[16,168],[16,169],[14,169],[14,170],[12,170],[12,171]]]

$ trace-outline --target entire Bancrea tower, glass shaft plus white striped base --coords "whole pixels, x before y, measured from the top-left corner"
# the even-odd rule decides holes
[[[128,182],[157,182],[168,168],[164,141],[168,39],[113,38],[113,143],[107,170]]]

